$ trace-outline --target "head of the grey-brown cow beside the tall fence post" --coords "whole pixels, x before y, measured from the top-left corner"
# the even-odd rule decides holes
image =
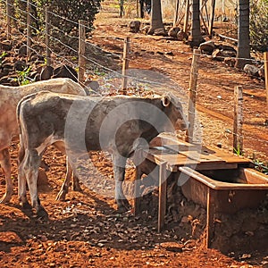
[[[166,94],[162,98],[162,104],[165,113],[172,122],[172,128],[174,130],[187,130],[188,121],[185,120],[182,105],[178,97],[173,96],[171,93]]]

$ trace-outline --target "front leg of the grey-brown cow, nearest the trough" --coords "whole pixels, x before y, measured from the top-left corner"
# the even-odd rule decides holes
[[[120,212],[130,209],[130,203],[122,190],[122,182],[125,178],[126,158],[121,155],[113,155],[113,172],[115,180],[115,201]]]

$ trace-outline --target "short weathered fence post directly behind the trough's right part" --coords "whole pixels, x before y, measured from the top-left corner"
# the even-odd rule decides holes
[[[243,88],[234,88],[233,152],[241,155],[243,151]]]

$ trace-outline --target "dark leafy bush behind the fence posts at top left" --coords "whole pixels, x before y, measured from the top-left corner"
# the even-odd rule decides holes
[[[54,38],[63,41],[66,35],[77,35],[78,21],[86,21],[87,31],[93,29],[93,21],[99,12],[101,0],[30,0],[30,13],[33,32],[45,28],[45,7],[51,7],[50,23],[54,26]],[[13,17],[17,27],[23,31],[26,26],[27,1],[12,0]]]

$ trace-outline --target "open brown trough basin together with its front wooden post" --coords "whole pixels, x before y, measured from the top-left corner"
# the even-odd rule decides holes
[[[268,177],[251,168],[197,172],[180,167],[180,172],[189,177],[181,186],[183,195],[206,208],[207,247],[211,247],[214,236],[216,213],[235,214],[244,208],[256,208],[268,194]]]

